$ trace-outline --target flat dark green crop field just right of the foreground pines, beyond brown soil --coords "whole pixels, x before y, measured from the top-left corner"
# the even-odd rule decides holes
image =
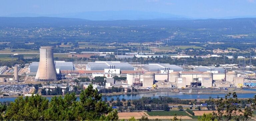
[[[150,116],[175,116],[175,114],[177,116],[190,116],[189,114],[187,114],[185,111],[150,111],[147,112],[148,115]]]

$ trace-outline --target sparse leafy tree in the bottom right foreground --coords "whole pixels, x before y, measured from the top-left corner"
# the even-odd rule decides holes
[[[256,99],[256,98],[255,98]],[[248,120],[253,115],[252,108],[246,107],[244,111],[238,105],[241,101],[238,100],[236,93],[228,93],[225,98],[220,98],[215,101],[217,112],[213,112],[213,116],[217,120]],[[248,101],[249,102],[249,101]]]

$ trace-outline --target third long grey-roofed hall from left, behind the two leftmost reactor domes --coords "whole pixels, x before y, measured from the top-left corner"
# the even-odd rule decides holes
[[[161,71],[161,70],[173,70],[182,71],[183,68],[177,65],[170,65],[168,63],[149,63],[145,64],[142,69],[145,71]]]

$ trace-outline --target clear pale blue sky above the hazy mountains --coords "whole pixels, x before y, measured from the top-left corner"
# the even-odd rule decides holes
[[[256,0],[0,0],[0,16],[120,10],[201,18],[256,16]]]

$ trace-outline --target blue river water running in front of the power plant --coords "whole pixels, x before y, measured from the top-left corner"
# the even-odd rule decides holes
[[[237,93],[238,98],[253,98],[254,95],[256,94],[256,89],[243,89],[246,91],[255,91],[255,93]],[[208,99],[209,96],[212,98],[217,98],[217,97],[225,97],[226,94],[199,94],[200,99]],[[182,92],[180,93],[172,93],[172,92],[154,92],[154,93],[145,93],[145,94],[124,94],[124,95],[103,95],[102,99],[104,100],[105,97],[107,97],[107,100],[111,100],[111,98],[114,98],[116,100],[117,97],[121,100],[122,98],[126,100],[133,100],[133,99],[140,99],[141,97],[151,97],[151,98],[158,98],[159,96],[168,96],[168,97],[173,97],[173,98],[180,98],[180,99],[197,99],[197,94],[183,94]],[[46,97],[47,99],[51,99],[51,97]],[[16,97],[11,97],[11,98],[0,98],[0,101],[14,101]],[[79,100],[79,97],[77,98]]]

